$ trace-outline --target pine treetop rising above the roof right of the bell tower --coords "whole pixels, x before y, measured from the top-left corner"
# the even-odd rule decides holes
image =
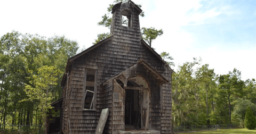
[[[149,46],[151,47],[151,43],[154,39],[157,38],[157,36],[161,36],[163,35],[163,30],[160,29],[160,30],[157,30],[155,28],[141,28],[141,38],[146,40],[147,43],[149,44]]]

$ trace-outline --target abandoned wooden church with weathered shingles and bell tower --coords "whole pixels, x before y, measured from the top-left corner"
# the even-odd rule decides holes
[[[172,70],[141,39],[141,12],[132,1],[114,5],[111,36],[68,59],[62,98],[51,104],[61,110],[60,132],[96,133],[108,108],[102,133],[171,133]]]

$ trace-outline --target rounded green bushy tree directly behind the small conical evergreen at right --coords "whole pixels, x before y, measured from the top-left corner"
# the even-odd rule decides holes
[[[252,112],[254,113],[254,115],[256,114],[256,105],[253,104],[252,102],[250,102],[247,99],[242,99],[239,98],[236,101],[235,107],[234,107],[234,112],[232,113],[232,117],[239,121],[240,124],[243,125],[244,128],[244,119],[245,119],[245,114],[246,114],[246,107],[250,106]]]

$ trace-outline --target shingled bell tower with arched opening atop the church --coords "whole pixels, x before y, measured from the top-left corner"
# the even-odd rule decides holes
[[[115,4],[112,9],[110,35],[118,45],[140,45],[140,7],[132,1]]]

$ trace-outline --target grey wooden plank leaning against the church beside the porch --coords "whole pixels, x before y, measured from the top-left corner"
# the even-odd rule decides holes
[[[95,134],[101,134],[103,132],[105,123],[108,119],[108,113],[109,113],[109,108],[105,108],[101,111],[100,119],[96,128]]]

